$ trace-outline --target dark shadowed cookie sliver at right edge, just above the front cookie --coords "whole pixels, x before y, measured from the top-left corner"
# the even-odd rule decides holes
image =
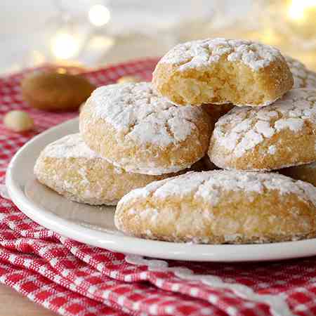
[[[280,169],[279,173],[282,173],[285,176],[289,176],[296,180],[306,181],[316,187],[316,162]]]

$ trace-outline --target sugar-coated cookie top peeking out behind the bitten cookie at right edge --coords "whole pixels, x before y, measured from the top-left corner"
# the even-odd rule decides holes
[[[308,70],[299,60],[285,56],[287,65],[293,74],[293,88],[316,88],[316,72]]]

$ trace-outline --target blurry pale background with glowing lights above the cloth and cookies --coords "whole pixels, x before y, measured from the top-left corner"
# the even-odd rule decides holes
[[[316,70],[316,0],[1,1],[0,74],[100,67],[205,37],[263,41]]]

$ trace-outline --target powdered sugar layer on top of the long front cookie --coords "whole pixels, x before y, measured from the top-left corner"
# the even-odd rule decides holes
[[[182,176],[156,181],[125,195],[118,204],[129,203],[141,197],[166,199],[176,196],[203,199],[216,206],[223,191],[262,194],[265,190],[277,190],[279,195],[294,194],[316,206],[316,187],[278,173],[246,171],[189,172]]]

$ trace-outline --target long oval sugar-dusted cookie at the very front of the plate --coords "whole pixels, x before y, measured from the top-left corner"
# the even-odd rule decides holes
[[[147,239],[201,244],[316,236],[316,187],[277,173],[190,172],[133,190],[115,225]]]

